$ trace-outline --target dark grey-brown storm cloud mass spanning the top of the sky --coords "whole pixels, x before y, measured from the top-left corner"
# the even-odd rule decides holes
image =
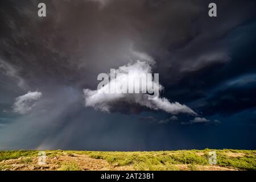
[[[94,86],[98,73],[127,63],[133,50],[153,56],[156,71],[170,72],[163,79],[172,82],[228,63],[221,38],[254,15],[253,1],[220,1],[221,18],[213,20],[206,1],[44,2],[46,18],[36,16],[37,1],[1,5],[1,57],[32,87],[40,80],[81,85],[83,79]]]

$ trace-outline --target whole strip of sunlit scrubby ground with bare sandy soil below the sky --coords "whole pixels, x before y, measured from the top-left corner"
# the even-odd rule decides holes
[[[217,154],[209,164],[209,152]],[[256,150],[179,150],[151,152],[45,151],[46,164],[38,164],[39,151],[0,151],[0,170],[256,170]]]

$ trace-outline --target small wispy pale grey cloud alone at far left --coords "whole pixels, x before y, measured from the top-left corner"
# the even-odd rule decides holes
[[[13,105],[14,113],[26,114],[36,105],[36,101],[42,97],[41,92],[28,92],[16,98]]]

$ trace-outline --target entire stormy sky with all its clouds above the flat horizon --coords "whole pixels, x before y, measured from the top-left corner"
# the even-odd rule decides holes
[[[255,150],[255,7],[1,1],[0,150]],[[110,69],[159,73],[159,96],[99,93]]]

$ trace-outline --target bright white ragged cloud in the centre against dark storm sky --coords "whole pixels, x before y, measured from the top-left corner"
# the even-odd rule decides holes
[[[112,110],[115,110],[115,107],[119,107],[121,103],[129,104],[131,107],[134,105],[139,105],[142,107],[147,107],[152,110],[163,110],[171,114],[187,113],[191,115],[196,115],[195,111],[189,108],[186,105],[182,105],[179,102],[170,102],[167,98],[159,97],[157,94],[154,100],[149,100],[150,94],[148,93],[107,93],[106,91],[112,86],[123,85],[124,82],[135,82],[138,81],[138,75],[141,73],[151,73],[152,61],[140,61],[131,62],[129,64],[123,65],[115,70],[117,75],[115,79],[112,79],[108,84],[102,86],[98,90],[83,89],[85,106],[93,107],[96,110],[101,110],[106,113],[110,113]],[[121,73],[121,74],[119,74]],[[128,80],[127,80],[128,79]],[[142,78],[143,80],[143,78]],[[156,82],[152,76],[150,79],[147,79],[146,88],[148,85],[154,86],[155,90],[163,90],[163,86]],[[141,89],[138,88],[141,85],[135,85],[134,90]],[[121,87],[119,87],[121,88]],[[152,88],[152,87],[150,87]],[[142,90],[142,89],[141,89]],[[155,93],[154,93],[155,94]]]

